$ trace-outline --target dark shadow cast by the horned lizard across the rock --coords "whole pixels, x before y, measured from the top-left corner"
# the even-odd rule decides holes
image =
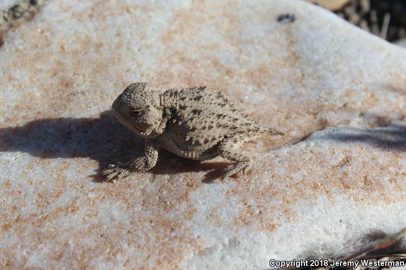
[[[21,151],[42,159],[89,158],[98,162],[94,182],[104,182],[101,171],[109,164],[143,156],[144,138],[132,133],[108,110],[99,118],[38,119],[22,126],[0,129],[0,151]],[[220,177],[229,163],[198,162],[176,156],[164,149],[151,169],[153,174],[208,171],[201,181]]]

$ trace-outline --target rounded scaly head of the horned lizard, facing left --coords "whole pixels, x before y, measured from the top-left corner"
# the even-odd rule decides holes
[[[162,122],[163,108],[159,91],[149,83],[135,83],[124,89],[111,106],[114,117],[127,128],[144,138],[159,135],[156,129]]]

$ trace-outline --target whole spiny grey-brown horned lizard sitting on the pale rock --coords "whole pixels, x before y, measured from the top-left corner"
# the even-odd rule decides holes
[[[251,166],[251,158],[238,148],[252,138],[284,135],[261,127],[244,111],[206,87],[169,89],[160,92],[149,83],[128,86],[113,102],[114,116],[127,128],[145,138],[145,156],[127,164],[109,165],[107,179],[147,171],[155,166],[158,150],[205,161],[221,156],[235,163],[226,167],[222,179]]]

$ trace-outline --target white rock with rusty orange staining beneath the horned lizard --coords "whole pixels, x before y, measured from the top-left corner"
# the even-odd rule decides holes
[[[295,21],[279,23],[292,13]],[[265,269],[406,225],[406,50],[298,1],[50,1],[0,48],[0,268]],[[207,85],[285,137],[249,174],[141,155],[125,86]],[[396,246],[403,248],[402,243]]]

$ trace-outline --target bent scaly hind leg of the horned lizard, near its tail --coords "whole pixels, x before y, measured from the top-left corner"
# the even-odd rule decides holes
[[[235,161],[235,163],[228,165],[223,170],[223,175],[221,177],[222,180],[238,173],[241,170],[243,170],[245,174],[251,167],[251,158],[248,156],[248,153],[238,150],[238,148],[244,142],[245,141],[240,138],[230,138],[219,144],[218,152],[220,157],[230,161]]]

